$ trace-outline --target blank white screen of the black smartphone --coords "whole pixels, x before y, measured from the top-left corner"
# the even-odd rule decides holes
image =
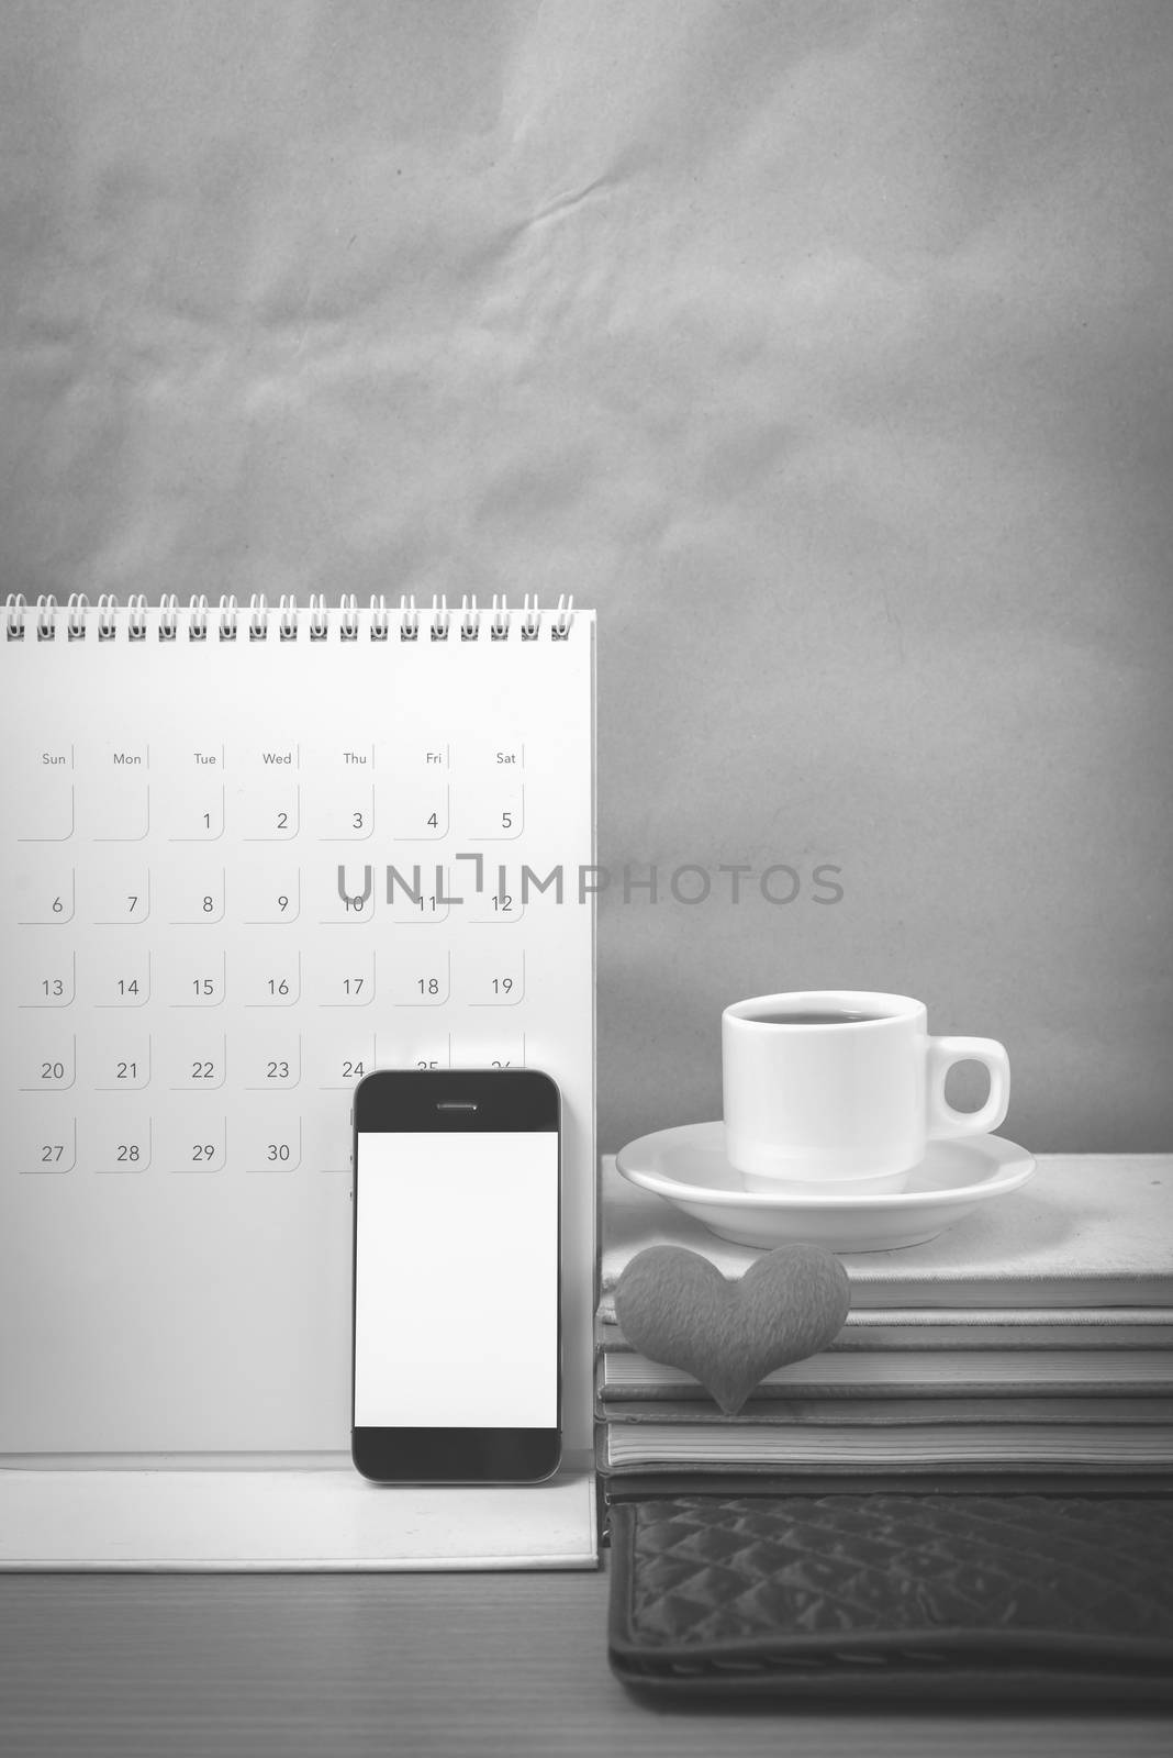
[[[557,1132],[356,1146],[355,1427],[557,1427]]]

